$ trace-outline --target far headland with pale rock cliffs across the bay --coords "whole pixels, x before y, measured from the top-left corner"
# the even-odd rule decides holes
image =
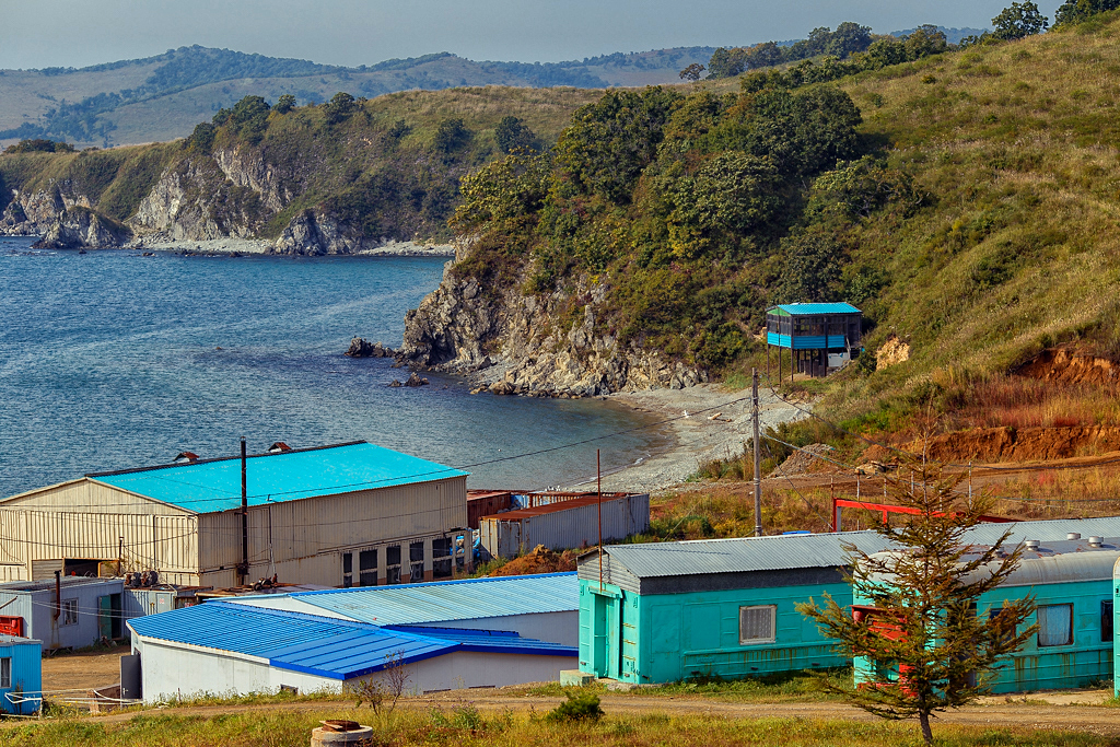
[[[131,233],[274,240],[349,253],[449,237],[461,176],[515,148],[544,149],[598,93],[459,88],[296,106],[246,96],[190,137],[106,150],[30,140],[0,156],[0,231],[114,245]],[[18,194],[13,194],[16,190]],[[91,233],[96,218],[108,233]]]

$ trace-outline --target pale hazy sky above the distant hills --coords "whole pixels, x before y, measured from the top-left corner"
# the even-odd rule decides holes
[[[199,44],[334,65],[451,52],[557,62],[802,38],[984,27],[1010,0],[0,0],[0,67],[82,67]],[[1039,8],[1053,18],[1058,0]]]

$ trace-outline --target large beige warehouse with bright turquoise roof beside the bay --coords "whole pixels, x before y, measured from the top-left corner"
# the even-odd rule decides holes
[[[0,501],[0,579],[106,563],[215,588],[450,578],[472,561],[466,478],[365,441],[91,474]]]

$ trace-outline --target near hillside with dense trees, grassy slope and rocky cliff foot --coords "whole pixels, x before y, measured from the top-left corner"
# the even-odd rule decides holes
[[[1120,360],[1118,32],[1093,13],[903,64],[610,92],[552,155],[464,181],[472,249],[410,320],[413,360],[610,391],[640,385],[626,366],[651,352],[759,364],[768,305],[846,300],[871,354],[830,407],[884,423],[1056,344]],[[890,335],[909,360],[875,371]]]

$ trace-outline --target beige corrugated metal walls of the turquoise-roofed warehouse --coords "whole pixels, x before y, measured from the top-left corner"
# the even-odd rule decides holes
[[[466,478],[454,477],[252,507],[250,576],[336,586],[337,551],[466,526]],[[0,568],[4,580],[26,580],[44,561],[115,560],[124,538],[125,570],[157,570],[165,583],[233,586],[241,535],[240,510],[196,515],[84,479],[0,504]]]

